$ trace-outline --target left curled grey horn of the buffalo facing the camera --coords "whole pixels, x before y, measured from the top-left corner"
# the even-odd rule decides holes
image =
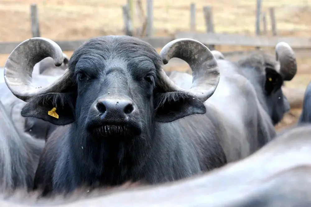
[[[64,60],[61,48],[42,37],[25,40],[11,52],[4,66],[4,80],[17,98],[27,101],[33,96],[61,92],[71,84],[68,69],[48,86],[35,88],[31,84],[34,65],[46,57],[52,57],[56,66],[62,65]]]

